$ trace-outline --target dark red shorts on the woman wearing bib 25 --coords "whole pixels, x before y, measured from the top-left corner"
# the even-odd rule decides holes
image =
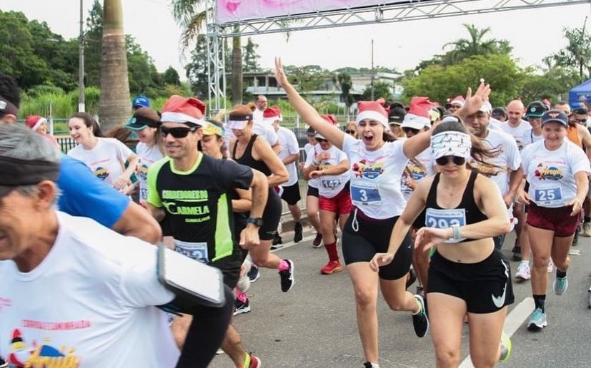
[[[581,222],[581,213],[571,216],[572,206],[547,208],[530,202],[527,206],[527,225],[553,230],[554,236],[567,237],[575,234]]]

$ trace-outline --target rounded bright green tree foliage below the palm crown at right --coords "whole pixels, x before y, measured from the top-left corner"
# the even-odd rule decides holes
[[[465,58],[447,67],[427,66],[418,76],[404,78],[402,86],[406,98],[428,96],[431,101],[445,104],[447,98],[464,95],[467,86],[477,87],[480,78],[490,83],[490,101],[499,106],[520,96],[525,76],[509,56],[490,54]]]

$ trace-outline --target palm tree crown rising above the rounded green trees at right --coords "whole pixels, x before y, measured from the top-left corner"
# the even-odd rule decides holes
[[[444,65],[459,63],[462,59],[470,56],[511,52],[512,47],[506,40],[485,40],[485,36],[490,33],[490,27],[477,29],[474,24],[463,24],[463,26],[470,34],[470,38],[459,39],[443,45],[442,49],[444,50],[447,46],[452,46],[452,49],[443,56]]]

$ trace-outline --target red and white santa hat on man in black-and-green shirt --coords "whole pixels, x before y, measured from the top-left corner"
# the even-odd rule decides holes
[[[184,123],[190,126],[204,126],[205,103],[198,98],[170,96],[162,107],[163,123]]]

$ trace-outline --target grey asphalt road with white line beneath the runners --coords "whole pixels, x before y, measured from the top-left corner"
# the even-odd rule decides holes
[[[264,368],[360,368],[364,358],[347,270],[321,275],[320,267],[327,262],[326,251],[324,247],[312,248],[312,231],[310,228],[304,231],[302,242],[290,242],[274,251],[279,257],[294,261],[294,288],[281,292],[277,271],[261,269],[261,277],[248,292],[252,311],[234,317],[234,325],[244,346],[262,359]],[[292,238],[289,232],[282,235],[284,241]],[[515,236],[508,235],[502,248],[508,259],[514,241]],[[505,330],[512,334],[513,351],[510,359],[499,366],[591,367],[591,309],[588,308],[591,238],[580,237],[579,244],[572,249],[580,255],[571,256],[569,288],[565,295],[554,295],[551,286],[554,274],[550,275],[546,300],[548,327],[541,332],[529,332],[525,327],[533,310],[530,282],[514,280],[515,304],[510,306],[505,323]],[[517,262],[511,262],[511,267],[515,275]],[[430,335],[416,337],[409,313],[389,310],[379,300],[378,318],[380,367],[434,367]],[[472,367],[468,328],[466,324],[460,367]],[[210,367],[229,368],[234,364],[222,354],[214,358]]]

